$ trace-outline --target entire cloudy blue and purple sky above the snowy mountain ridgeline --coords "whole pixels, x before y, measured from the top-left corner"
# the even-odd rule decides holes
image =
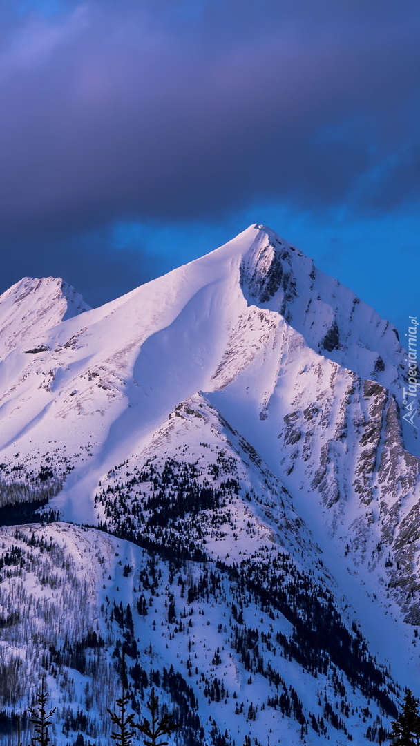
[[[419,313],[415,0],[5,0],[1,287],[96,305],[270,225]]]

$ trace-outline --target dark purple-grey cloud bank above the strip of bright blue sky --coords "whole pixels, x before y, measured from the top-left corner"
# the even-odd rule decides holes
[[[417,0],[13,0],[0,13],[4,251],[63,253],[114,219],[220,219],[265,198],[389,209],[418,186],[404,149],[419,151]]]

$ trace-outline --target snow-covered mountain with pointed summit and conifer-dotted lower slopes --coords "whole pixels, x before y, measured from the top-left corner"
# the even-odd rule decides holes
[[[95,310],[22,280],[0,320],[10,727],[44,666],[57,743],[107,742],[124,648],[180,744],[383,738],[420,624],[389,322],[263,226]]]

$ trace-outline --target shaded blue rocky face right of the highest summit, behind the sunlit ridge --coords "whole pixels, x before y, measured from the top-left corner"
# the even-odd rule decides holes
[[[251,225],[233,241],[239,238],[242,247],[248,242],[240,266],[248,304],[280,313],[314,351],[393,388],[402,350],[389,322],[266,225]]]

